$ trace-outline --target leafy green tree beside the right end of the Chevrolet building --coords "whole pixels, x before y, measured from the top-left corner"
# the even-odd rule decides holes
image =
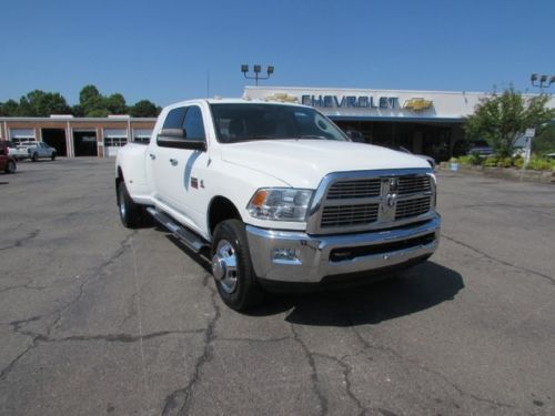
[[[549,97],[523,97],[513,88],[501,95],[494,93],[466,118],[464,129],[471,138],[485,139],[502,158],[513,154],[515,142],[528,128],[536,128],[555,116],[546,106]]]

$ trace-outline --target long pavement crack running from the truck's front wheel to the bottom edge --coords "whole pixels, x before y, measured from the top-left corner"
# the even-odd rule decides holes
[[[204,275],[203,285],[210,290],[211,293],[210,298],[212,302],[212,306],[214,308],[214,316],[212,317],[212,319],[210,319],[206,328],[202,331],[204,335],[204,348],[201,356],[194,363],[193,375],[185,387],[179,388],[165,397],[164,407],[162,409],[162,415],[164,416],[174,414],[178,408],[179,408],[178,410],[179,415],[188,414],[191,394],[194,387],[196,386],[196,383],[199,383],[201,378],[202,367],[206,363],[209,363],[213,357],[212,343],[215,339],[214,332],[218,321],[220,319],[221,316],[221,311],[216,302],[216,291],[213,287],[209,286],[208,274]]]

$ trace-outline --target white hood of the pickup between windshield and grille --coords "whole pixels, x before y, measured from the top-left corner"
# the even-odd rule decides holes
[[[412,154],[330,140],[261,140],[225,144],[222,160],[304,189],[317,187],[322,177],[332,172],[430,169],[425,160]]]

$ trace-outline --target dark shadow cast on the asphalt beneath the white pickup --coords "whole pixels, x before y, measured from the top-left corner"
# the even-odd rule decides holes
[[[173,235],[168,234],[168,239],[211,274],[205,257],[193,253]],[[350,288],[302,294],[269,293],[262,306],[244,315],[270,316],[289,311],[285,321],[300,325],[377,324],[452,301],[463,288],[460,273],[427,261],[381,282]]]

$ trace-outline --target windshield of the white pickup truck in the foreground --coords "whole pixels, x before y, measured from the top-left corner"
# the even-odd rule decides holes
[[[249,140],[349,141],[330,120],[310,108],[281,104],[211,104],[220,143]]]

